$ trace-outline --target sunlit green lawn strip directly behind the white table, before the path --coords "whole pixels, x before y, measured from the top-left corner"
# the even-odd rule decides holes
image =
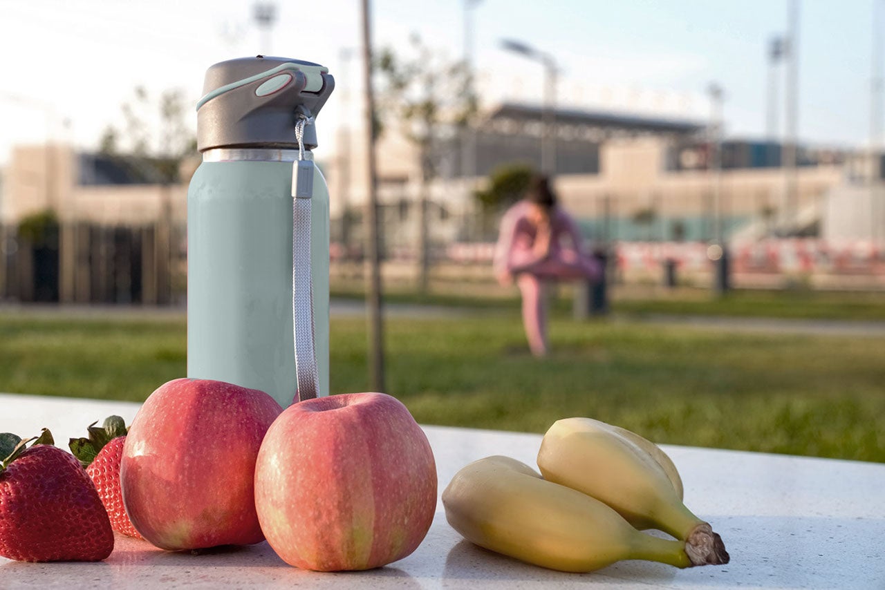
[[[589,416],[666,443],[885,462],[885,338],[727,333],[516,310],[389,318],[387,393],[419,422],[542,433]],[[0,313],[0,391],[141,401],[185,373],[183,318]],[[363,391],[366,323],[332,322],[332,389]],[[2,409],[9,411],[14,409]]]

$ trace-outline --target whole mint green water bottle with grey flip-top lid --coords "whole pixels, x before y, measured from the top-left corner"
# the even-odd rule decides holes
[[[334,86],[320,65],[248,57],[212,65],[197,103],[203,163],[188,190],[188,376],[260,389],[283,408],[296,397],[295,128],[316,117]],[[311,160],[314,126],[301,137]],[[317,171],[309,243],[319,395],[328,395],[328,226]]]

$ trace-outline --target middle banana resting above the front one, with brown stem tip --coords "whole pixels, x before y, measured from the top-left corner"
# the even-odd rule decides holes
[[[720,536],[682,503],[660,459],[623,432],[591,418],[558,420],[544,434],[538,467],[544,479],[608,504],[636,528],[685,540],[692,562],[728,563]]]

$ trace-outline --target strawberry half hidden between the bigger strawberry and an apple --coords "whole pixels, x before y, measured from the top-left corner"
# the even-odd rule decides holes
[[[123,443],[126,442],[127,427],[123,418],[106,418],[101,427],[93,422],[87,430],[89,438],[71,439],[73,455],[80,459],[92,483],[96,485],[98,497],[102,499],[104,510],[111,518],[114,531],[135,539],[143,539],[135,530],[123,506],[123,494],[119,487],[119,461],[123,457]]]

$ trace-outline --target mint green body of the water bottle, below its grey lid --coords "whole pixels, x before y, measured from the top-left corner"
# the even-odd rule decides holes
[[[296,399],[291,161],[204,161],[188,191],[188,376]],[[328,395],[328,188],[317,171],[311,267],[319,395]]]

